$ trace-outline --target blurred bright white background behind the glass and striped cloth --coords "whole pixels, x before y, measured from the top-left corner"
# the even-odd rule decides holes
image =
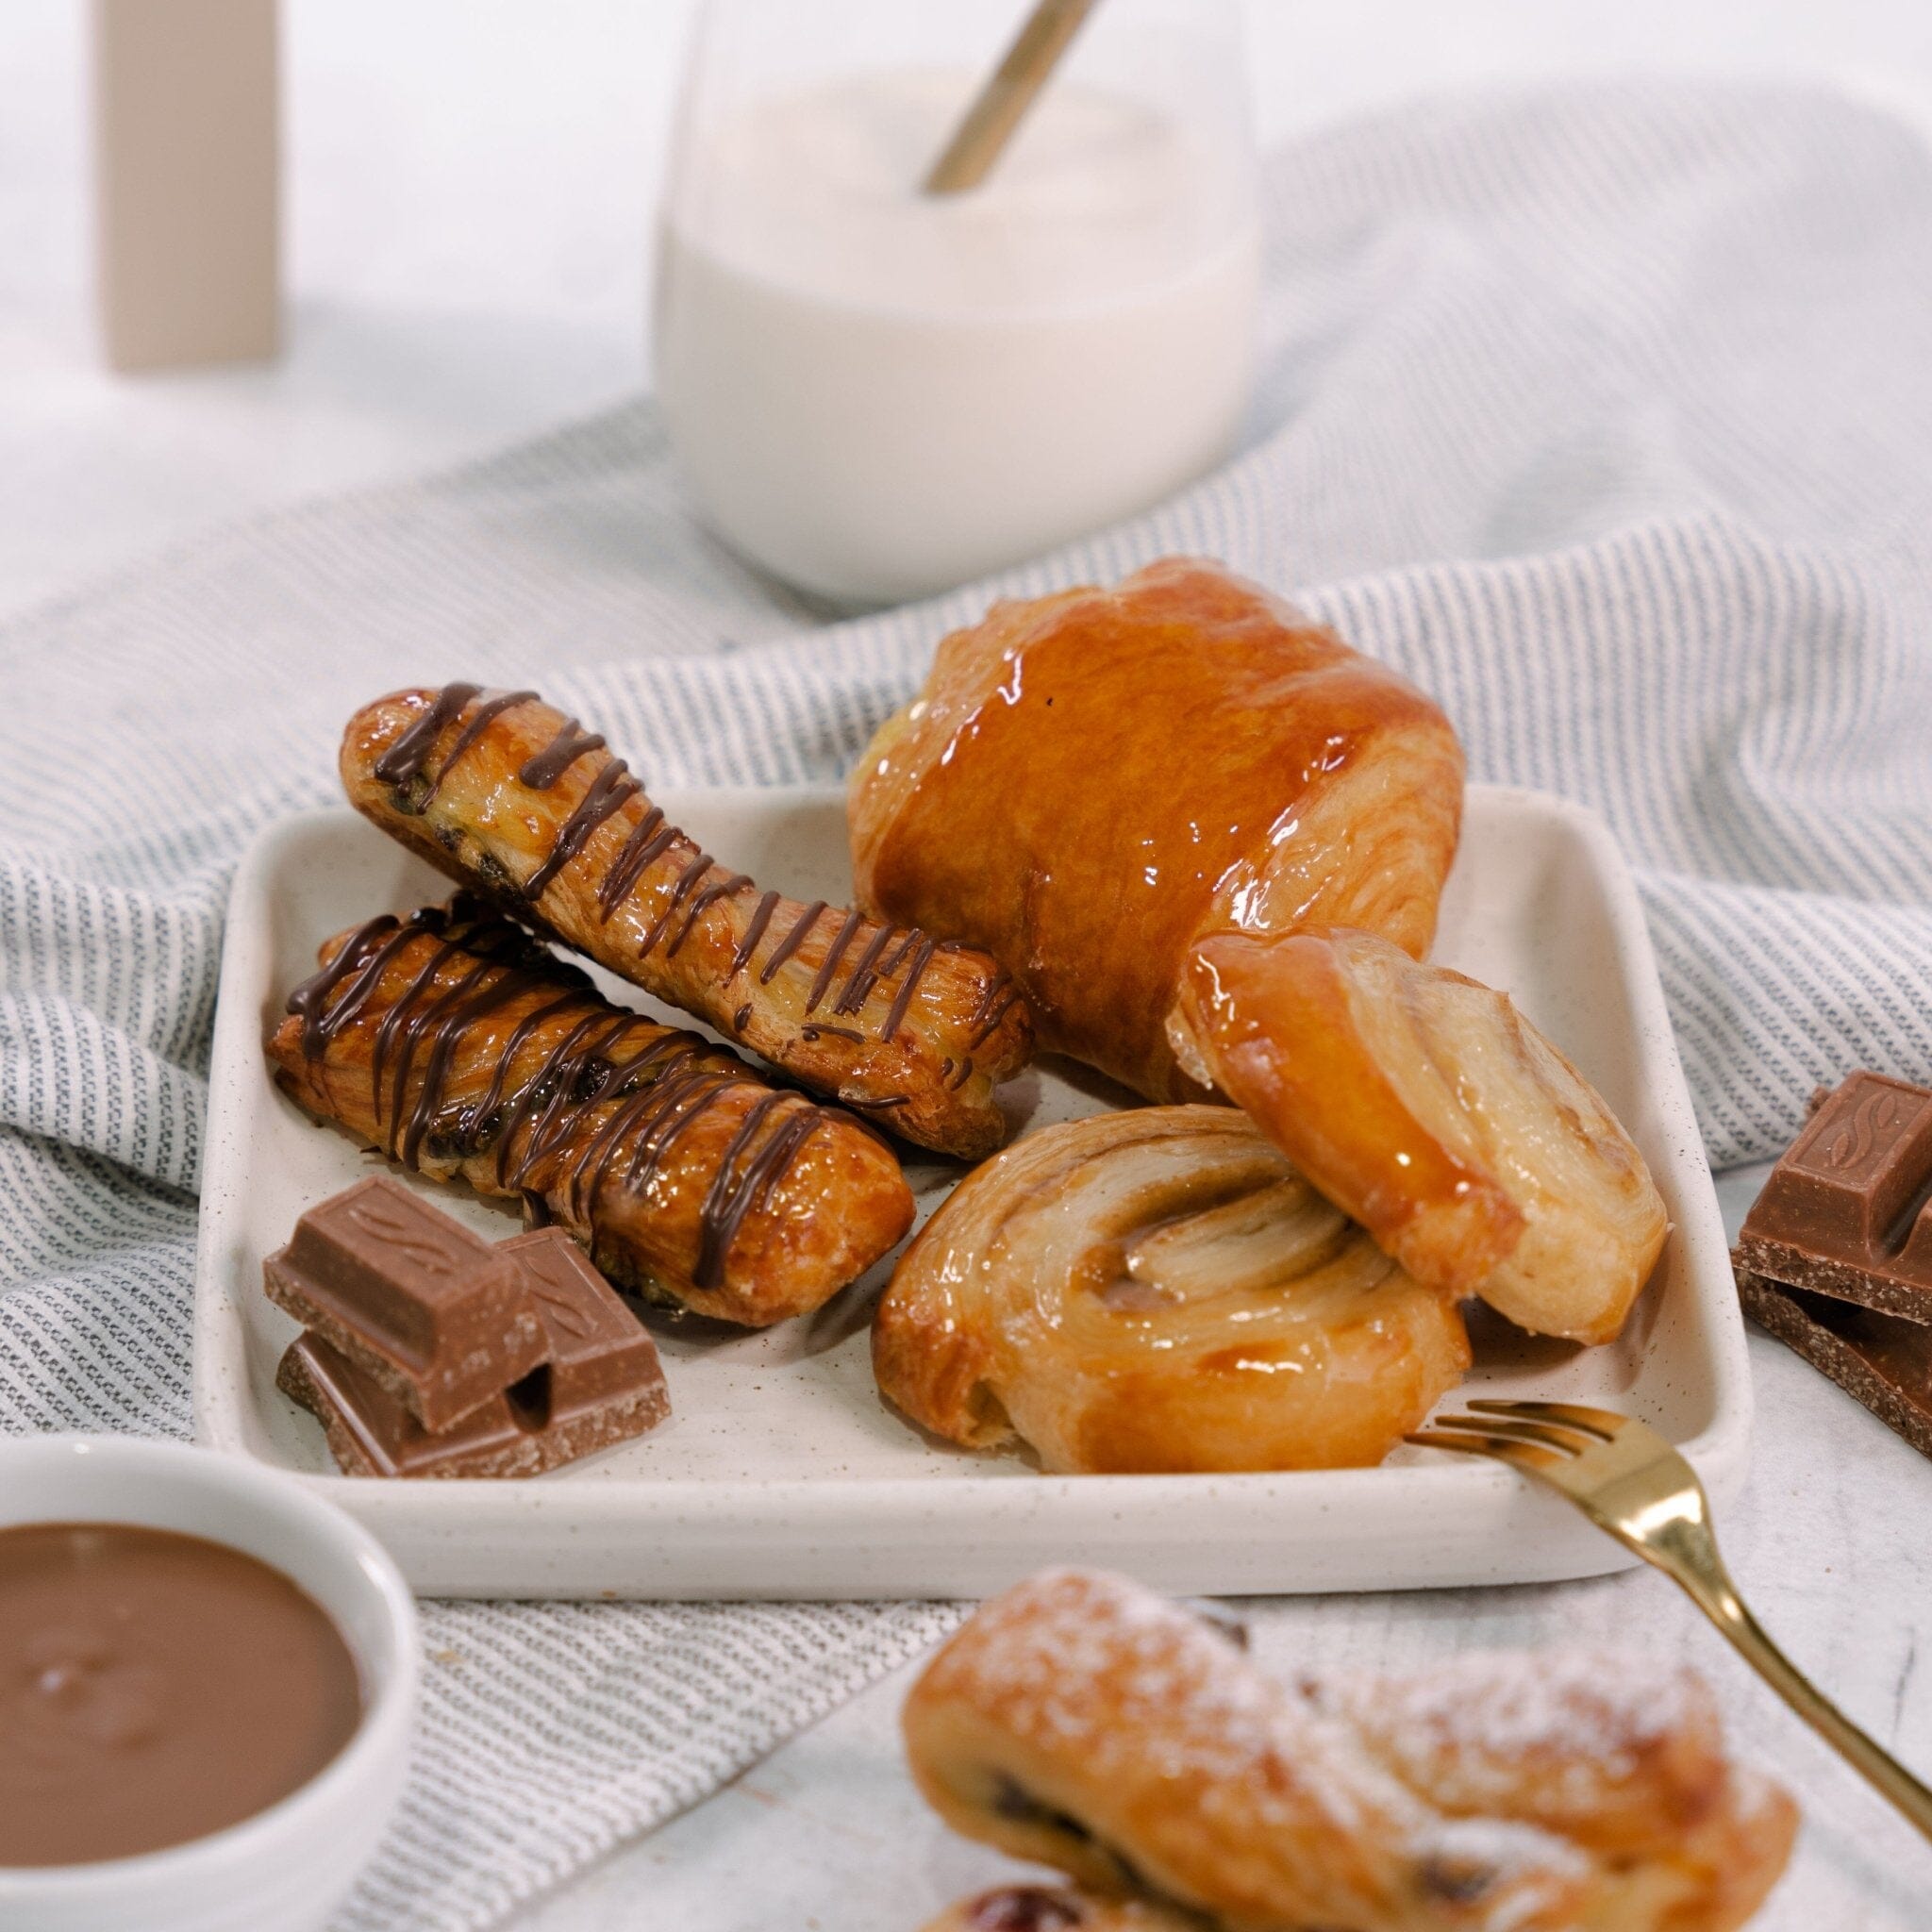
[[[87,305],[87,8],[4,0],[0,609],[638,388],[690,12],[284,0],[288,355],[112,379]],[[1932,126],[1932,0],[1248,0],[1248,15],[1269,141],[1422,89],[1633,68],[1833,77]]]

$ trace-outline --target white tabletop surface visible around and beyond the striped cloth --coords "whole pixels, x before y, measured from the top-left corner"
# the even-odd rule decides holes
[[[686,0],[286,0],[290,348],[267,369],[112,379],[87,309],[83,15],[0,8],[0,612],[317,491],[431,469],[645,379],[645,236]],[[1835,77],[1932,129],[1928,0],[1250,0],[1258,122],[1281,139],[1424,87],[1631,68]],[[1741,1211],[1752,1177],[1723,1192]],[[1752,1484],[1721,1524],[1762,1619],[1845,1706],[1932,1766],[1932,1466],[1752,1337]],[[1561,1636],[1613,1592],[1683,1633],[1646,1573],[1493,1592],[1484,1640]],[[1449,1600],[1302,1600],[1443,1631]],[[1932,1634],[1932,1625],[1928,1625]],[[1766,1932],[1924,1932],[1932,1853],[1700,1631],[1733,1727],[1832,1822]],[[900,1932],[1003,1864],[923,1812],[902,1679],[792,1741],[547,1903],[520,1932]]]

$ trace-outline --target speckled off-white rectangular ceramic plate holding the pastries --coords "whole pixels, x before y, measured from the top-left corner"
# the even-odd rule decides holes
[[[838,792],[692,790],[659,804],[755,877],[848,896]],[[817,1316],[765,1333],[653,1318],[670,1420],[574,1468],[531,1482],[332,1474],[321,1430],[274,1387],[294,1325],[263,1296],[261,1262],[296,1215],[375,1157],[282,1097],[261,1039],[321,939],[446,893],[350,811],[274,825],[243,862],[214,1022],[195,1314],[201,1439],[309,1474],[419,1590],[980,1596],[1078,1559],[1165,1590],[1236,1594],[1528,1582],[1629,1561],[1513,1472],[1412,1449],[1370,1470],[1039,1476],[1014,1457],[937,1445],[873,1389],[866,1320],[883,1267]],[[1437,958],[1515,993],[1602,1088],[1675,1223],[1619,1343],[1575,1349],[1482,1321],[1470,1391],[1634,1410],[1687,1449],[1721,1505],[1745,1472],[1745,1333],[1642,912],[1604,825],[1534,792],[1472,786]],[[634,989],[618,997],[659,1010]],[[1007,1097],[1022,1130],[1119,1099],[1057,1065]],[[910,1173],[925,1211],[958,1169],[925,1157]],[[429,1192],[481,1233],[514,1231],[468,1194]]]

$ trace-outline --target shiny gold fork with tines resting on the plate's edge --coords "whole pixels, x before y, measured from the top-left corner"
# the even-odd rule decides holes
[[[1932,1791],[1864,1735],[1764,1634],[1731,1582],[1696,1470],[1648,1424],[1577,1403],[1470,1401],[1408,1441],[1509,1463],[1567,1495],[1600,1530],[1663,1571],[1731,1648],[1868,1783],[1932,1837]]]

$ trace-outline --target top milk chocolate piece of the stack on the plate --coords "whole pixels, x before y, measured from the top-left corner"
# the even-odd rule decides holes
[[[545,1360],[543,1323],[502,1248],[388,1175],[311,1208],[263,1262],[263,1283],[425,1430],[462,1420]]]

